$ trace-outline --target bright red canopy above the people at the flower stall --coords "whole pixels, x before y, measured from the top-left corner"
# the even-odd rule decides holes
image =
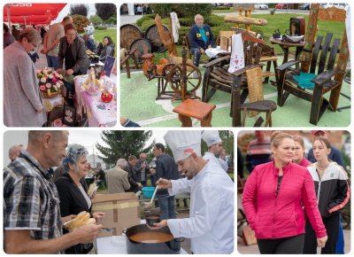
[[[27,24],[50,24],[50,21],[57,19],[59,12],[66,4],[5,4],[4,21],[9,21],[7,11],[9,9],[12,23]]]

